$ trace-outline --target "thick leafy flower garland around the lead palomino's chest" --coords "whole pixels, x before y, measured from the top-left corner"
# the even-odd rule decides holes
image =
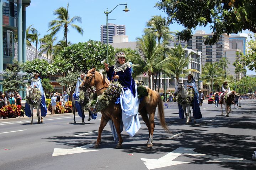
[[[113,82],[109,84],[109,87],[103,92],[103,94],[97,96],[94,93],[90,97],[88,104],[89,110],[93,113],[97,113],[100,110],[107,108],[112,102],[114,102],[121,94],[122,86],[119,82]]]

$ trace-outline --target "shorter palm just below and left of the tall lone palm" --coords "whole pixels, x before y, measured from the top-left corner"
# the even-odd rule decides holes
[[[43,36],[43,38],[40,39],[41,42],[43,43],[46,43],[46,44],[43,44],[40,46],[40,49],[41,49],[41,52],[40,52],[40,55],[46,51],[46,56],[50,56],[51,57],[51,63],[52,63],[52,60],[53,60],[53,50],[54,50],[54,47],[53,47],[53,44],[54,44],[54,41],[56,40],[57,37],[53,37],[52,34],[47,34],[45,36]]]

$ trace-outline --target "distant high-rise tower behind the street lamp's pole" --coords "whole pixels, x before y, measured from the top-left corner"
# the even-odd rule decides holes
[[[113,23],[108,23],[109,28],[109,43],[113,43],[113,36],[114,35],[126,35],[125,33],[125,25],[117,25]],[[106,25],[100,26],[100,40],[101,43],[107,43],[107,27]]]

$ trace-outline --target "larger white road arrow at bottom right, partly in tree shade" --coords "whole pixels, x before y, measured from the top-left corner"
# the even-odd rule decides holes
[[[166,166],[178,165],[178,164],[185,164],[190,163],[189,161],[174,161],[175,158],[179,157],[181,154],[191,155],[193,157],[203,157],[209,160],[207,162],[242,162],[242,163],[255,163],[251,160],[246,160],[243,158],[232,157],[229,155],[222,155],[219,154],[219,157],[206,155],[202,153],[198,153],[194,151],[195,148],[178,148],[173,150],[172,152],[164,155],[159,159],[146,159],[141,158],[142,161],[145,161],[144,164],[146,165],[147,169],[156,169],[156,168],[163,168]]]

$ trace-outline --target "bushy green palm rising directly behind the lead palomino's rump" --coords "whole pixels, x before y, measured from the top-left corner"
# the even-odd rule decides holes
[[[148,73],[149,87],[151,87],[151,76],[154,78],[154,74],[157,72],[157,64],[162,61],[162,55],[164,48],[162,45],[156,44],[155,35],[148,33],[143,35],[142,38],[137,38],[137,49],[140,55],[131,57],[131,61],[135,64],[134,75],[140,75],[143,72]],[[158,66],[159,67],[159,66]]]

